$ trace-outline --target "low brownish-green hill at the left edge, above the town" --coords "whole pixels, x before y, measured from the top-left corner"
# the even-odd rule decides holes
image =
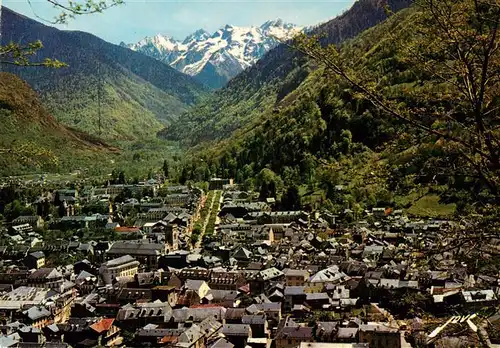
[[[79,168],[117,149],[59,124],[19,77],[0,73],[0,175]]]

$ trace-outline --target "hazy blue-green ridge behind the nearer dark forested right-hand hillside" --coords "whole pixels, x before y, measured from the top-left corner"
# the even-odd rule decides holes
[[[315,28],[312,34],[319,35],[323,44],[339,44],[387,18],[385,5],[398,11],[411,2],[360,0],[343,15]],[[186,145],[223,139],[257,121],[262,112],[273,108],[299,86],[309,72],[303,55],[284,44],[279,45],[207,102],[167,127],[160,136]]]

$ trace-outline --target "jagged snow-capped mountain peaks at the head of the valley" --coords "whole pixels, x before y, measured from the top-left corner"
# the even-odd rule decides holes
[[[276,38],[290,38],[301,30],[277,19],[260,27],[226,25],[213,34],[200,29],[183,41],[158,34],[122,46],[170,64],[207,86],[219,88],[276,46]]]

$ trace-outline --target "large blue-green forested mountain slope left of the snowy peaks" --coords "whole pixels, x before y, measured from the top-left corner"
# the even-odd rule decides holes
[[[55,58],[66,67],[2,65],[41,94],[61,123],[98,135],[98,90],[106,139],[152,137],[206,93],[190,76],[153,58],[77,31],[61,31],[2,8],[2,44],[40,40],[34,61]]]

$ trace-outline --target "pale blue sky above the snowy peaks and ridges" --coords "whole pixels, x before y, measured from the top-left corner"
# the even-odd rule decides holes
[[[66,1],[66,0],[61,0]],[[4,6],[34,18],[53,19],[58,11],[46,0],[0,0]],[[335,17],[354,0],[125,0],[101,14],[78,17],[60,29],[82,30],[107,41],[136,42],[157,33],[184,39],[197,29],[214,32],[225,24],[260,25],[282,18],[298,25],[314,25]]]

